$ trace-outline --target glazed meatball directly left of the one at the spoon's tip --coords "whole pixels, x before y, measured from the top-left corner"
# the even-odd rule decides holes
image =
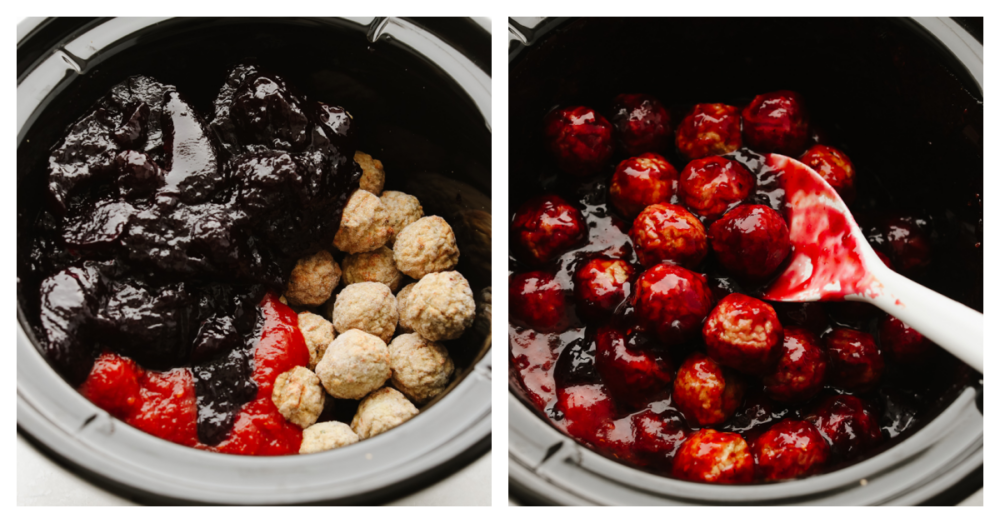
[[[611,205],[628,219],[654,203],[670,203],[675,194],[677,169],[654,153],[622,160],[608,187]]]

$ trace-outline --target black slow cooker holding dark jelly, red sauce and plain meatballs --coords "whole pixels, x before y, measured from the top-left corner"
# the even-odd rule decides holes
[[[478,314],[451,350],[456,377],[449,390],[410,422],[336,451],[260,458],[175,445],[91,404],[36,349],[19,289],[19,432],[74,472],[150,503],[372,503],[425,487],[485,453],[489,52],[489,33],[463,19],[75,18],[31,29],[17,51],[19,253],[42,205],[48,149],[94,100],[127,76],[146,74],[208,108],[227,68],[251,59],[364,122],[360,147],[388,166],[387,189],[416,195],[425,213],[452,223],[478,217],[455,227],[463,253],[458,270],[472,285]]]

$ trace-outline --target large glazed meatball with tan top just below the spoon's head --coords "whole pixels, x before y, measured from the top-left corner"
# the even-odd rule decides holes
[[[778,315],[770,305],[744,294],[730,294],[708,315],[702,327],[709,357],[746,374],[774,368],[784,340]]]

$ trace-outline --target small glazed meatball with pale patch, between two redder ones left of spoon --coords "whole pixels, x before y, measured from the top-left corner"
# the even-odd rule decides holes
[[[587,260],[573,273],[577,312],[592,319],[609,316],[625,301],[635,274],[635,266],[625,260],[607,256]]]

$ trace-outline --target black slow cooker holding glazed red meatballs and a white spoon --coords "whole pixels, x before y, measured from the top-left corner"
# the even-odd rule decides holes
[[[861,176],[893,205],[960,224],[962,246],[927,284],[983,305],[983,46],[950,19],[515,18],[509,21],[510,187],[517,209],[557,176],[542,117],[621,92],[673,103],[791,89],[835,122]],[[981,24],[981,21],[979,22]],[[973,29],[966,29],[972,27]],[[981,25],[980,25],[981,27]],[[598,108],[598,110],[600,110]],[[982,377],[881,453],[784,483],[706,485],[605,458],[554,428],[509,382],[510,495],[601,505],[954,504],[982,488]]]

